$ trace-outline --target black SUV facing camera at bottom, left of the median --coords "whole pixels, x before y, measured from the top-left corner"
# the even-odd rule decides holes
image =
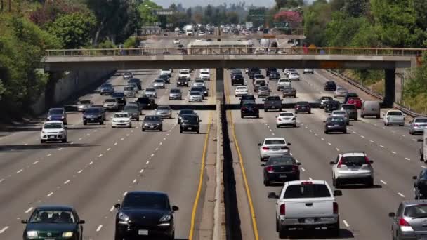
[[[175,239],[173,214],[177,206],[171,206],[164,192],[128,192],[122,204],[115,204],[114,239],[135,239],[147,236],[154,239]]]

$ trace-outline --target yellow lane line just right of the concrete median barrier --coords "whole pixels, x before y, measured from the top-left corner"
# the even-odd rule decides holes
[[[224,76],[225,76],[225,74],[224,74]],[[225,102],[230,103],[230,99],[228,98],[228,81],[225,81],[225,79],[224,79],[224,90],[225,90]],[[258,240],[259,239],[258,226],[256,225],[256,216],[255,216],[255,211],[254,211],[254,204],[252,202],[252,197],[251,197],[251,190],[249,189],[246,171],[244,170],[242,152],[240,152],[239,143],[237,141],[237,137],[236,137],[236,133],[235,133],[235,124],[234,124],[234,121],[232,121],[231,110],[229,110],[228,113],[230,116],[232,138],[235,141],[235,147],[237,150],[237,155],[239,155],[239,164],[240,164],[240,168],[242,169],[244,189],[246,190],[246,194],[247,194],[247,198],[248,198],[248,202],[249,202],[249,209],[251,211],[252,228],[254,229],[254,237],[255,237],[255,240]]]

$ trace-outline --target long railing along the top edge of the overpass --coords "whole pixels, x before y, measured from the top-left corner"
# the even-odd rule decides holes
[[[157,55],[360,55],[421,56],[426,48],[100,48],[47,50],[47,57],[157,56]]]

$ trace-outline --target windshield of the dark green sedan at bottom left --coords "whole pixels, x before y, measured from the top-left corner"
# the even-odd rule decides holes
[[[30,223],[74,223],[71,211],[37,210],[29,218]]]

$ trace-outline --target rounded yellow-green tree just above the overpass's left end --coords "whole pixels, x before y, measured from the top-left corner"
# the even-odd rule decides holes
[[[95,26],[96,18],[92,14],[72,13],[55,20],[48,32],[61,39],[64,48],[74,49],[90,43]]]

